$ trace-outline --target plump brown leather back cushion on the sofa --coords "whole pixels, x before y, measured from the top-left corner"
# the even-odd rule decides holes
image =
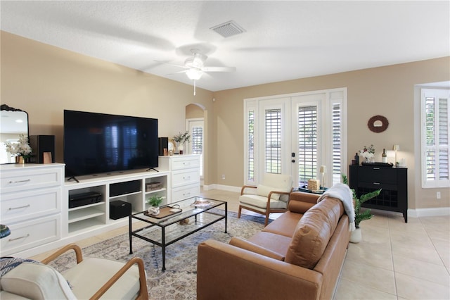
[[[314,268],[343,213],[342,202],[329,197],[310,208],[295,228],[285,261],[304,268]]]

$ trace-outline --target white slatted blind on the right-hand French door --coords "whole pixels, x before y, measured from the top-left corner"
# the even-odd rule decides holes
[[[317,173],[317,106],[298,108],[299,185],[307,185]]]

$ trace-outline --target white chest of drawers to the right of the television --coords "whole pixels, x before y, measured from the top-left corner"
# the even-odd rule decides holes
[[[200,155],[160,156],[158,167],[170,172],[171,203],[200,194]]]

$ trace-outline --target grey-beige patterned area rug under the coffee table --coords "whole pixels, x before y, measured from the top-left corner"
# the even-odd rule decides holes
[[[161,270],[161,247],[133,237],[134,252],[129,254],[128,234],[87,246],[82,249],[82,253],[83,256],[108,258],[122,262],[138,256],[143,259],[146,266],[150,299],[196,299],[198,244],[207,239],[227,243],[231,237],[251,237],[263,229],[264,218],[241,215],[241,218],[238,219],[236,213],[229,212],[227,227],[227,233],[225,233],[224,220],[221,220],[167,246],[164,272]],[[74,257],[74,254],[66,254],[51,262],[51,265],[57,270],[63,271],[75,264]]]

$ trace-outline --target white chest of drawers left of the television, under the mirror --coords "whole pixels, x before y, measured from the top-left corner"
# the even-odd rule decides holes
[[[60,239],[63,163],[0,165],[0,180],[1,256]]]

